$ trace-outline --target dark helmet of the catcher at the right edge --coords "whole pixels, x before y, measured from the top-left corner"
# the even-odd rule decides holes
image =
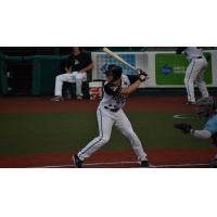
[[[196,113],[199,116],[203,117],[208,117],[212,114],[216,113],[216,102],[214,98],[212,97],[206,97],[206,98],[201,98],[196,101]]]

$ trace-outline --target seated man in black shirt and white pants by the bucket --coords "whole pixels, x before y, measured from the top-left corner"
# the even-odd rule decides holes
[[[73,52],[64,64],[65,73],[55,77],[54,98],[52,101],[61,101],[63,82],[76,82],[76,97],[82,99],[82,81],[87,80],[87,72],[93,68],[90,55],[79,47],[73,47]]]

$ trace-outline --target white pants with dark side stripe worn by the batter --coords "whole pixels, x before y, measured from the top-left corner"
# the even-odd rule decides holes
[[[115,125],[117,129],[130,141],[133,152],[138,156],[138,161],[146,161],[146,154],[143,151],[141,141],[132,130],[131,124],[122,108],[115,113],[100,106],[97,111],[97,116],[99,137],[90,141],[80,152],[78,152],[78,157],[81,161],[89,157],[93,152],[98,151],[101,146],[108,142],[113,125]]]

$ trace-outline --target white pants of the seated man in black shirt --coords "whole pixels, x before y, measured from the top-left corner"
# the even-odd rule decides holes
[[[62,95],[63,82],[76,82],[76,95],[82,95],[82,81],[87,80],[87,73],[65,73],[55,77],[54,95]]]

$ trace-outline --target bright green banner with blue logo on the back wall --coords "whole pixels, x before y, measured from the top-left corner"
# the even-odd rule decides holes
[[[188,65],[189,61],[183,54],[180,55],[175,53],[157,53],[155,55],[156,85],[183,86],[183,79]],[[207,85],[213,82],[212,61],[208,62],[208,67],[204,74],[204,79]]]

